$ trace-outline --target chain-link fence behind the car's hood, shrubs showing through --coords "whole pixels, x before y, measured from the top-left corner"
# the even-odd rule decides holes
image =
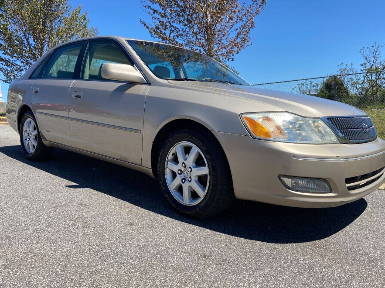
[[[378,135],[385,138],[385,70],[261,83],[253,86],[307,94],[358,107],[372,118]]]

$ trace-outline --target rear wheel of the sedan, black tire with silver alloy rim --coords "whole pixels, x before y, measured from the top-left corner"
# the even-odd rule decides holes
[[[23,115],[19,132],[22,151],[27,159],[31,161],[46,160],[54,152],[54,147],[44,145],[32,112],[28,111]]]

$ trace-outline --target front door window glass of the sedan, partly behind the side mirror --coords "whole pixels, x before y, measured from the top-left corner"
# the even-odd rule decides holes
[[[90,42],[85,53],[81,79],[101,80],[103,63],[134,65],[121,47],[110,41]]]

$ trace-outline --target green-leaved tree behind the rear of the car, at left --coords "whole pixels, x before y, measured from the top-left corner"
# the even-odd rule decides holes
[[[50,48],[93,36],[87,12],[68,0],[0,0],[0,72],[10,83]]]

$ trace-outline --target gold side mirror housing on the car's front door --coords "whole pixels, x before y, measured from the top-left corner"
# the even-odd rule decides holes
[[[119,63],[103,63],[101,76],[105,79],[127,81],[134,83],[147,83],[140,71],[131,65]]]

